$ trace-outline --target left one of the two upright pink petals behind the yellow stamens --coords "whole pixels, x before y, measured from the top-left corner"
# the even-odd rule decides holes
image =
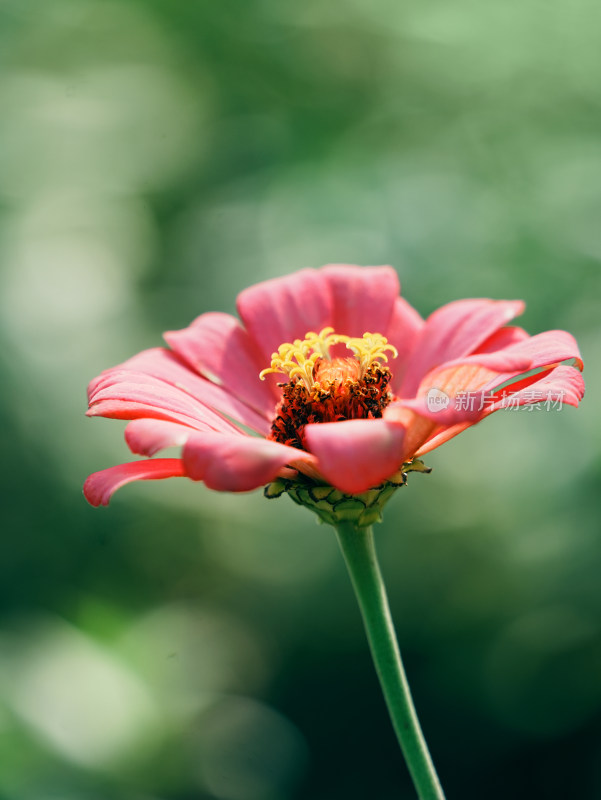
[[[238,313],[256,342],[262,368],[284,342],[332,324],[332,297],[321,273],[303,269],[250,286],[238,295]]]

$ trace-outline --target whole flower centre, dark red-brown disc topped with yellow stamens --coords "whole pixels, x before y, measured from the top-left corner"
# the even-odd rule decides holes
[[[341,344],[353,355],[332,357],[330,349]],[[381,417],[392,399],[390,370],[380,363],[388,361],[387,352],[396,358],[396,348],[379,333],[358,338],[337,334],[333,328],[309,331],[304,339],[280,345],[271,356],[271,366],[260,374],[261,380],[272,372],[288,376],[287,382],[278,384],[282,399],[268,438],[306,449],[305,425]]]

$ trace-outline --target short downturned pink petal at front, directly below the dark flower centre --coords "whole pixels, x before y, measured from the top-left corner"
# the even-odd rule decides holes
[[[354,419],[307,425],[305,437],[328,483],[358,494],[398,471],[402,464],[401,425],[383,419]]]

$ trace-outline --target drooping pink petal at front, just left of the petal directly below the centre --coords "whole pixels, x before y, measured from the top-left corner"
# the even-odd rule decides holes
[[[274,480],[287,465],[314,464],[315,458],[278,442],[207,431],[188,439],[183,461],[188,476],[210,489],[248,492]]]

